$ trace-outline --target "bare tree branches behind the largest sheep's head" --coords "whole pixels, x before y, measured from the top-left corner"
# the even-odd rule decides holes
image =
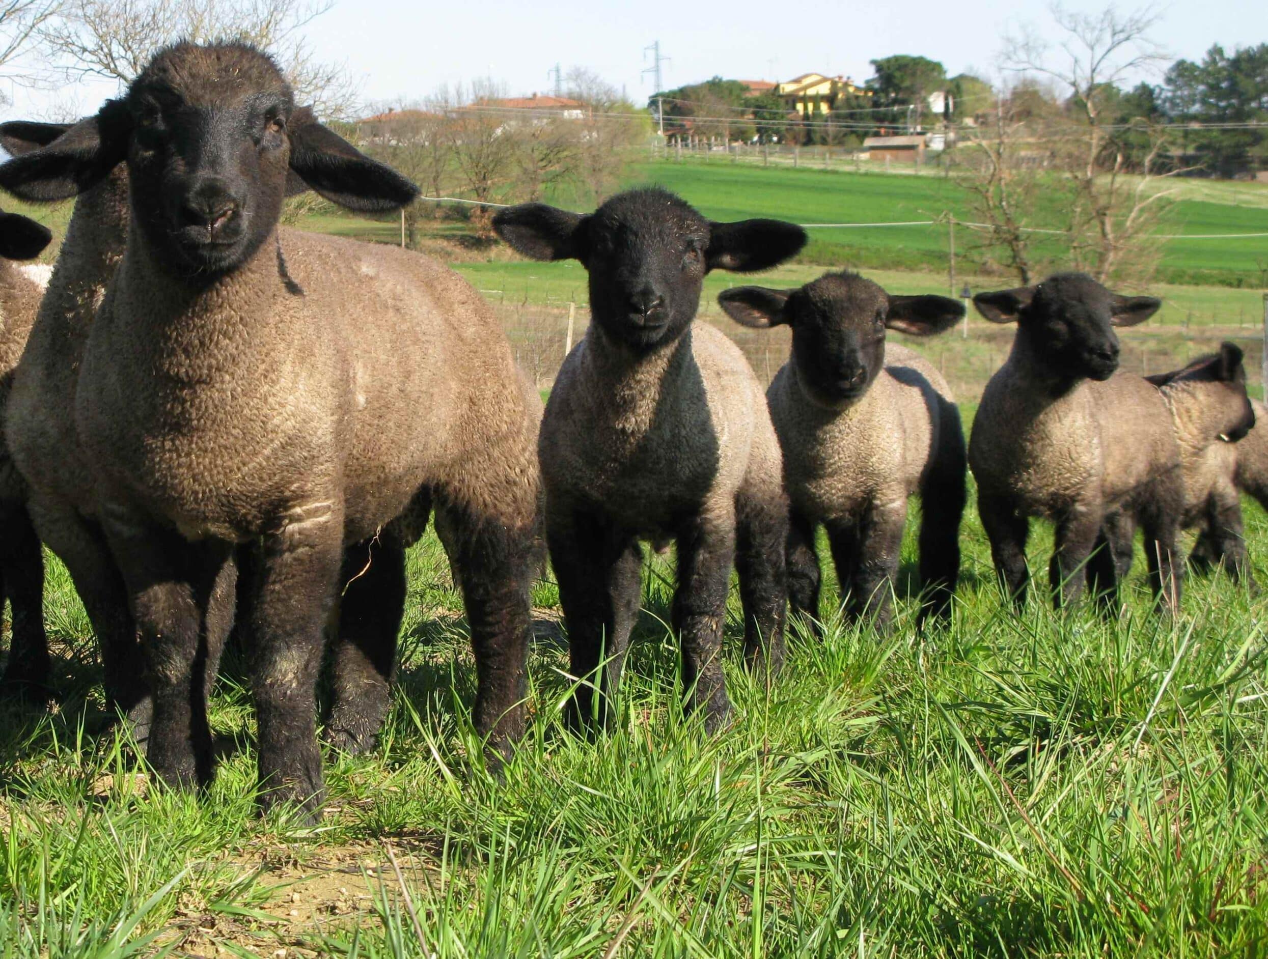
[[[36,29],[48,58],[68,76],[129,82],[160,47],[237,39],[273,53],[301,103],[325,118],[356,106],[358,82],[342,65],[318,61],[304,28],[333,0],[65,0]]]

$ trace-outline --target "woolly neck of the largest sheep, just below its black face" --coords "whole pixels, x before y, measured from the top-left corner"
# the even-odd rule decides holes
[[[190,281],[150,256],[133,225],[110,317],[114,334],[153,372],[207,381],[252,362],[269,342],[270,304],[283,291],[274,236],[237,269]]]

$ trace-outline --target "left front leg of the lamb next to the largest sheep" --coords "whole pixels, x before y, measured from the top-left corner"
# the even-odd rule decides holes
[[[552,512],[547,542],[568,627],[572,675],[578,682],[568,721],[581,730],[606,718],[606,695],[620,682],[639,613],[643,551],[633,536],[592,513]]]

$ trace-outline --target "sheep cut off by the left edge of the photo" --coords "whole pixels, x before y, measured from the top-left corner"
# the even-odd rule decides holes
[[[0,213],[0,413],[44,293],[11,261],[39,256],[51,239],[52,233],[36,220]],[[8,598],[13,626],[0,690],[28,694],[48,685],[43,592],[44,559],[27,513],[27,484],[9,455],[0,419],[0,611]]]

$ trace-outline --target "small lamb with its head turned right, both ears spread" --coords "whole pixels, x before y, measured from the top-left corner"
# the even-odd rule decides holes
[[[1184,500],[1179,447],[1156,388],[1115,375],[1113,328],[1144,322],[1159,300],[1113,294],[1085,274],[1056,274],[1036,286],[979,293],[974,305],[993,323],[1017,323],[969,441],[978,509],[1006,590],[1025,604],[1030,518],[1044,517],[1056,523],[1054,602],[1074,603],[1087,579],[1112,611],[1111,543],[1122,532],[1130,540],[1139,523],[1155,599],[1174,612],[1183,578],[1174,561]]]

